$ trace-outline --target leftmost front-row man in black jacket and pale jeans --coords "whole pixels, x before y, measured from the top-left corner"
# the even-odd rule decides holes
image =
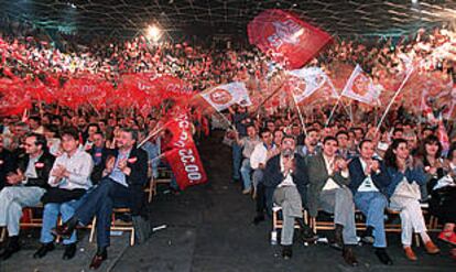
[[[0,259],[9,259],[20,250],[19,222],[22,208],[36,207],[48,188],[47,178],[54,156],[47,151],[46,139],[42,134],[26,134],[25,153],[19,157],[18,168],[9,173],[7,183],[11,186],[0,192],[0,227],[8,228],[9,241],[0,253]]]

